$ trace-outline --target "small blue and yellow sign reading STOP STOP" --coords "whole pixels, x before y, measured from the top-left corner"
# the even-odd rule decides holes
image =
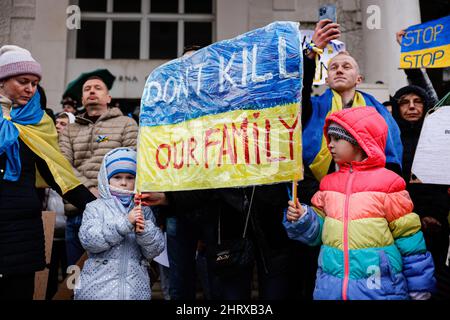
[[[400,68],[450,67],[450,16],[406,29]]]

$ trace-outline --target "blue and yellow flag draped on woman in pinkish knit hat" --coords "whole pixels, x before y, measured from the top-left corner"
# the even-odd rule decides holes
[[[0,118],[0,155],[6,154],[4,180],[17,181],[21,162],[19,138],[43,159],[63,194],[80,185],[69,161],[61,154],[58,135],[52,119],[41,109],[39,92],[24,106],[11,110],[10,117]],[[36,187],[47,187],[39,172]]]

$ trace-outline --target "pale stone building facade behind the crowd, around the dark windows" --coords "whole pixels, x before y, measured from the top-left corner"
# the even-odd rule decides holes
[[[77,43],[78,30],[69,30],[67,23],[71,18],[67,8],[80,4],[81,0],[0,0],[0,45],[17,44],[32,51],[42,64],[44,77],[42,84],[48,95],[49,106],[60,111],[59,101],[68,82],[78,74],[95,68],[105,67],[117,76],[111,92],[114,98],[138,101],[146,76],[167,59],[152,59],[151,47],[148,54],[148,33],[151,31],[141,22],[140,50],[137,59],[115,59],[111,55],[111,41],[108,32],[116,21],[114,14],[81,12],[81,21],[106,21],[105,56],[80,58]],[[118,0],[103,0],[108,12]],[[120,0],[119,0],[120,1]],[[154,0],[153,0],[154,1]],[[170,2],[169,0],[167,0]],[[178,1],[178,12],[187,8],[185,0]],[[189,1],[189,0],[186,0]],[[419,0],[210,0],[211,12],[184,16],[149,15],[149,21],[168,21],[178,23],[178,35],[184,30],[183,19],[206,21],[211,24],[211,41],[232,38],[248,30],[259,28],[276,20],[300,21],[304,29],[313,29],[318,19],[318,8],[324,4],[335,4],[337,20],[341,25],[342,37],[347,50],[357,59],[365,77],[362,87],[374,92],[380,100],[387,99],[389,93],[404,85],[405,77],[397,70],[399,47],[395,42],[395,32],[401,28],[420,23]],[[81,1],[83,2],[83,1]],[[97,1],[96,1],[97,2]],[[100,1],[102,2],[102,1]],[[135,2],[136,1],[132,1]],[[86,1],[85,1],[86,3]],[[127,2],[128,3],[128,2]],[[141,0],[142,10],[149,10],[151,0]],[[369,6],[379,10],[372,12]],[[180,9],[182,8],[182,9]],[[373,8],[373,7],[371,7]],[[182,10],[182,11],[180,11]],[[379,14],[379,28],[369,29],[368,21]],[[136,21],[139,13],[122,14],[122,20],[129,17]],[[145,15],[144,15],[145,16]],[[143,16],[143,17],[144,17]],[[112,17],[112,18],[111,18]],[[124,18],[125,17],[125,18]],[[111,20],[108,22],[108,19]],[[142,18],[144,19],[144,18]],[[153,19],[153,20],[152,20]],[[115,22],[114,22],[115,23]],[[181,29],[180,29],[181,27]],[[109,30],[109,31],[108,31]],[[184,33],[186,36],[186,32]],[[189,36],[189,35],[187,35]],[[78,36],[78,39],[79,36]],[[109,40],[108,40],[109,39]],[[111,40],[112,39],[112,40]],[[102,37],[98,41],[105,41]],[[181,39],[182,41],[182,39]],[[180,36],[178,36],[180,42]],[[181,43],[182,44],[182,43]],[[178,52],[180,54],[180,46]],[[108,47],[109,46],[109,47]],[[147,49],[146,49],[147,48]],[[112,52],[114,54],[114,52]],[[383,84],[379,84],[382,82]],[[320,89],[319,89],[320,90]]]

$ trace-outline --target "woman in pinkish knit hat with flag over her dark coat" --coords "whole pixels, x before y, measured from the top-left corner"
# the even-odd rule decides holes
[[[0,300],[32,299],[34,274],[45,267],[37,187],[50,186],[81,211],[95,200],[59,151],[40,105],[41,77],[28,50],[0,48]]]

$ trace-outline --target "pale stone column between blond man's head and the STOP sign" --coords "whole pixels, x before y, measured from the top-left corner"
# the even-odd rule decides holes
[[[420,23],[419,0],[361,0],[361,12],[365,82],[382,81],[393,95],[407,84],[404,71],[399,69],[400,46],[395,34],[401,29]],[[376,22],[378,13],[379,28],[370,29],[376,25],[373,22]]]

